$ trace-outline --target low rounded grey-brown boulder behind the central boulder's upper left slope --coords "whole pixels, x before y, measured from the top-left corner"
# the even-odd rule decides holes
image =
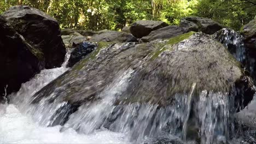
[[[95,41],[95,42],[106,41],[106,42],[124,43],[124,42],[137,42],[138,40],[129,33],[104,30],[104,31],[98,32],[98,34],[96,35],[93,35],[90,41]]]

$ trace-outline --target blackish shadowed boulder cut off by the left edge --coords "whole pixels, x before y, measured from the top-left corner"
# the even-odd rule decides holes
[[[7,94],[18,91],[21,83],[39,73],[43,64],[35,56],[34,47],[24,40],[0,16],[0,103],[7,87]]]

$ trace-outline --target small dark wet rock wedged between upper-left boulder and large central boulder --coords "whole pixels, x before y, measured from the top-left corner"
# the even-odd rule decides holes
[[[68,59],[67,67],[73,67],[73,65],[83,59],[86,55],[96,49],[96,44],[88,41],[78,44],[71,52]]]

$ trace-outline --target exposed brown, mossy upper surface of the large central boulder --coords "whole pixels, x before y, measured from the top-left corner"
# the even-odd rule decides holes
[[[172,105],[174,95],[189,93],[193,83],[196,83],[197,94],[204,90],[229,93],[238,99],[237,103],[241,102],[243,88],[250,86],[243,80],[246,75],[240,62],[211,37],[191,34],[147,44],[97,48],[36,93],[33,103],[46,97],[66,100],[75,106],[97,101],[102,99],[104,89],[125,73],[131,73],[129,83],[113,99],[115,104]],[[241,89],[233,93],[238,88]],[[245,97],[252,99],[252,95]]]

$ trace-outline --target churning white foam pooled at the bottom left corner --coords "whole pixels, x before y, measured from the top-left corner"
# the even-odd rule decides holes
[[[8,105],[0,115],[0,143],[128,143],[124,134],[108,130],[82,135],[73,129],[60,133],[60,128],[41,127],[15,105]]]

